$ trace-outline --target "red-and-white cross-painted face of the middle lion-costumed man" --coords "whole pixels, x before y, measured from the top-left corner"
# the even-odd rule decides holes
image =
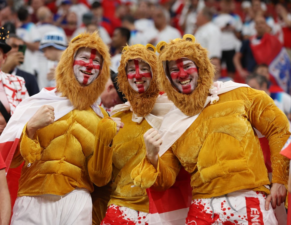
[[[137,92],[145,92],[151,83],[152,72],[149,64],[136,59],[129,60],[125,68],[129,85]]]

